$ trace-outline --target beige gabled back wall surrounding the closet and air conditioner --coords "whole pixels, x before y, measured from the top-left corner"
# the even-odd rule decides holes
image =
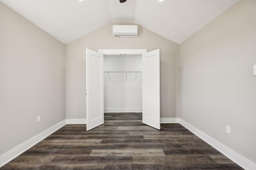
[[[139,26],[137,38],[115,38],[110,23],[66,45],[66,117],[86,118],[86,48],[98,49],[160,49],[161,117],[175,115],[175,62],[179,45]],[[136,23],[119,23],[136,24]],[[137,24],[136,24],[137,25]]]

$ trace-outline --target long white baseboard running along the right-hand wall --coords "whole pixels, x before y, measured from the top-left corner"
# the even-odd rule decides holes
[[[215,149],[220,151],[222,154],[224,154],[225,156],[230,158],[233,162],[235,162],[242,168],[244,168],[246,170],[256,170],[256,163],[252,162],[248,158],[246,158],[246,157],[242,156],[241,154],[239,154],[238,152],[230,149],[223,143],[220,143],[216,139],[210,137],[206,133],[200,131],[199,129],[197,129],[196,127],[194,127],[193,125],[191,125],[190,123],[188,123],[182,119],[180,119],[180,124],[183,125],[184,127],[186,127],[192,133],[194,133],[196,136],[200,137],[203,141],[205,141],[206,143],[208,143],[209,145],[211,145],[212,147],[214,147]]]

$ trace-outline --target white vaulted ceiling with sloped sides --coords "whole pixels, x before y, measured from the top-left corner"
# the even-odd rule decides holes
[[[62,43],[110,22],[135,22],[178,44],[239,0],[0,0]]]

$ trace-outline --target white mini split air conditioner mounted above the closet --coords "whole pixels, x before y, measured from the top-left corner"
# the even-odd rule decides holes
[[[113,37],[138,37],[138,25],[113,25]]]

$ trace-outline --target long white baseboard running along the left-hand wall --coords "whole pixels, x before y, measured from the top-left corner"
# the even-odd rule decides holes
[[[18,145],[14,149],[2,154],[0,156],[0,167],[4,166],[8,162],[10,162],[12,159],[16,158],[26,150],[30,149],[31,147],[36,145],[38,142],[42,141],[44,138],[48,137],[50,134],[54,133],[64,125],[66,125],[66,120],[63,120],[60,123],[57,123],[56,125],[53,125],[49,129],[46,129],[45,131],[39,133],[35,137],[32,137],[28,141]]]

